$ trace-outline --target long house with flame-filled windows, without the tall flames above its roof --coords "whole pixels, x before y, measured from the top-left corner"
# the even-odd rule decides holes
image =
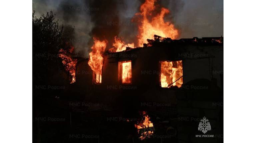
[[[110,49],[102,56],[95,50],[95,57],[78,61],[76,84],[102,90],[172,89],[185,88],[182,85],[196,79],[215,79],[221,87],[222,78],[214,72],[222,70],[222,41],[223,37],[172,40],[155,35],[143,47]],[[100,62],[93,63],[97,58]]]

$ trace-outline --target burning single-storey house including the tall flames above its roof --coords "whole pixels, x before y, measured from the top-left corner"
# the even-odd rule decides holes
[[[176,40],[178,29],[164,20],[169,13],[156,0],[146,0],[132,19],[138,26],[133,43],[96,34],[89,58],[77,62],[76,84],[112,94],[123,89],[180,89],[196,79],[216,79],[220,87],[221,78],[213,71],[222,70],[223,37]]]

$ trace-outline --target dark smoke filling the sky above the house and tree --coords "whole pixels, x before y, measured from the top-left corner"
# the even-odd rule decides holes
[[[107,48],[114,36],[136,42],[137,23],[131,20],[144,1],[33,0],[33,10],[37,17],[52,10],[60,24],[74,28],[70,41],[78,56],[88,57],[93,36],[107,39]],[[223,0],[157,0],[157,4],[170,10],[165,20],[174,23],[179,38],[223,36]]]

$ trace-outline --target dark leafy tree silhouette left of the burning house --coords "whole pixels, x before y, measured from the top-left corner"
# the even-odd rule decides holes
[[[69,75],[58,53],[60,49],[72,52],[68,39],[74,36],[74,30],[59,25],[52,11],[39,18],[33,11],[32,22],[33,85],[69,83]]]

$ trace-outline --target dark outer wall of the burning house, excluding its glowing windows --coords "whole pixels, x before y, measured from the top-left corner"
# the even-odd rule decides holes
[[[118,81],[118,62],[132,61],[132,85],[142,88],[160,87],[160,61],[183,61],[183,84],[195,79],[216,78],[221,87],[223,74],[223,45],[171,45],[136,48],[104,54],[102,85],[122,85]],[[80,72],[79,72],[80,71]],[[77,63],[76,82],[92,85],[92,70],[88,59]]]

